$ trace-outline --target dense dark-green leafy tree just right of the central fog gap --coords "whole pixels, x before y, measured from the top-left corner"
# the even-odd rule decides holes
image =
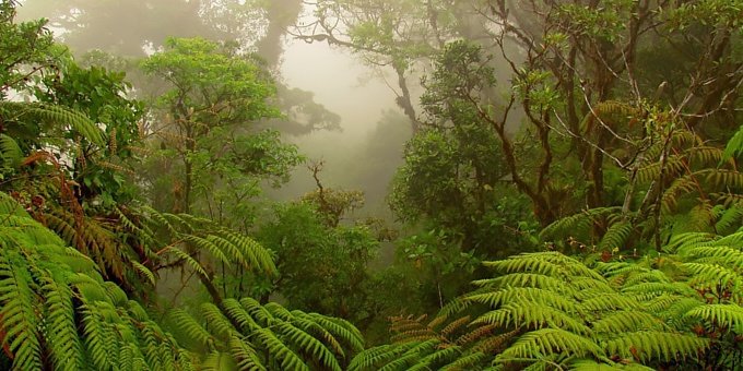
[[[498,135],[473,105],[479,89],[492,87],[492,73],[479,47],[447,45],[424,81],[428,124],[405,146],[390,205],[403,220],[461,235],[464,250],[495,259],[532,241],[530,228],[523,228],[530,219],[527,200],[502,196],[514,189],[504,184],[508,169]],[[492,246],[494,239],[503,246]]]

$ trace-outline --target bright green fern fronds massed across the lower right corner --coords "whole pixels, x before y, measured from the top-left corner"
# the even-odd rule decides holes
[[[680,235],[667,258],[593,266],[557,252],[487,262],[498,276],[428,324],[394,319],[393,343],[351,369],[731,368],[743,360],[741,239]]]

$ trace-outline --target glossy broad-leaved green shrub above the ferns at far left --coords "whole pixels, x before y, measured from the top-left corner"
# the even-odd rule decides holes
[[[37,99],[78,110],[105,130],[104,143],[87,140],[95,145],[76,144],[72,173],[80,184],[82,201],[109,208],[114,200],[131,200],[132,187],[125,176],[133,175],[135,164],[131,159],[142,146],[139,121],[143,119],[144,107],[141,101],[128,98],[131,85],[125,81],[125,73],[101,67],[83,69],[67,61],[59,74],[45,76],[42,82],[35,87]]]

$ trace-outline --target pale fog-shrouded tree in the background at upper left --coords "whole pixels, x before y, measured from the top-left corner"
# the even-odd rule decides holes
[[[253,50],[266,62],[266,69],[279,74],[283,35],[302,11],[302,1],[128,1],[123,3],[75,0],[58,2],[26,0],[22,13],[46,16],[75,55],[87,52],[95,65],[126,70],[135,85],[132,92],[143,98],[155,86],[141,75],[132,60],[146,56],[146,50],[166,46],[168,37],[202,37],[213,41],[235,41],[243,50]],[[138,26],[132,27],[134,22]],[[102,58],[111,53],[116,59]],[[121,62],[125,63],[121,63]],[[113,64],[109,64],[113,63]],[[132,79],[134,77],[134,79]],[[280,80],[280,79],[278,79]],[[278,100],[284,113],[271,125],[302,135],[316,130],[339,130],[340,117],[314,100],[310,92],[276,82]],[[153,91],[154,89],[154,91]]]

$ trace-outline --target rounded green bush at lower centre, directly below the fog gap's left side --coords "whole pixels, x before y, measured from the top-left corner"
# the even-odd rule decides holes
[[[297,309],[365,320],[373,287],[366,265],[379,242],[367,226],[328,226],[312,204],[279,206],[258,239],[275,251],[276,292]]]

